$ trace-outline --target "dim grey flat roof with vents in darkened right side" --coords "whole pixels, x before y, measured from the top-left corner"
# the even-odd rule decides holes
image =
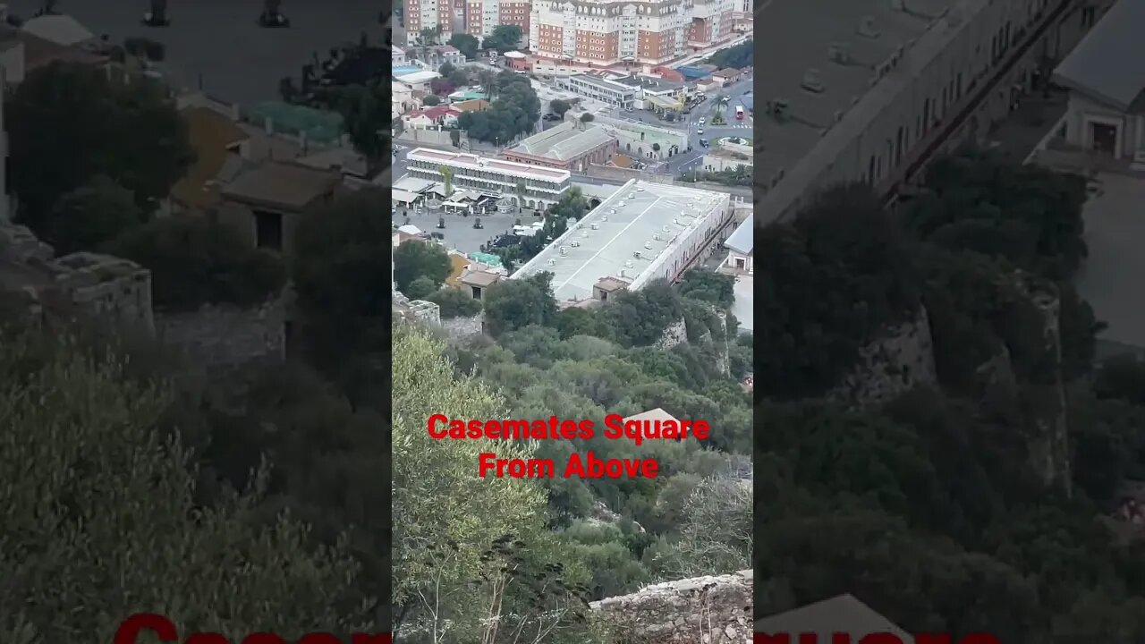
[[[764,102],[787,101],[789,117],[780,121],[761,115],[753,124],[757,176],[769,183],[781,170],[784,174],[761,199],[763,210],[782,210],[798,198],[822,167],[838,158],[838,150],[907,87],[922,64],[945,49],[966,22],[963,16],[986,1],[909,0],[908,11],[893,9],[886,0],[764,5],[755,21],[756,46],[761,49],[756,55],[773,64],[755,68],[755,92]],[[957,18],[948,16],[956,3],[973,7],[955,10]],[[864,18],[871,19],[872,36],[859,33]],[[832,46],[846,53],[847,64],[831,61]],[[898,68],[875,83],[874,68],[889,62],[900,47]],[[818,72],[822,92],[803,88],[808,70]],[[763,212],[765,218],[773,214],[781,212]]]

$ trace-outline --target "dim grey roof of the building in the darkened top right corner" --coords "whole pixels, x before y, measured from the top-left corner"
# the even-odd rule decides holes
[[[1145,97],[1145,0],[1118,0],[1065,61],[1053,80],[1121,111]],[[1145,105],[1143,105],[1145,107]]]

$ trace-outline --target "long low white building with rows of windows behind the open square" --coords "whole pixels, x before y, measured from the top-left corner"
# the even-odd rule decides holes
[[[443,181],[444,168],[455,189],[465,188],[506,198],[511,204],[524,207],[554,204],[572,184],[572,175],[567,170],[534,167],[477,155],[418,148],[409,152],[406,160],[413,179]]]

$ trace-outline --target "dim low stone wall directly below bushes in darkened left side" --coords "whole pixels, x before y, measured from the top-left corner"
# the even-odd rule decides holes
[[[282,298],[254,308],[206,305],[185,313],[158,312],[155,317],[157,336],[204,367],[282,361],[286,355]]]

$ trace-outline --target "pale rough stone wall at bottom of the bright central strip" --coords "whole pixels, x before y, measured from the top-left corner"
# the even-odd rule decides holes
[[[751,571],[649,586],[591,604],[597,616],[631,644],[749,644]]]

